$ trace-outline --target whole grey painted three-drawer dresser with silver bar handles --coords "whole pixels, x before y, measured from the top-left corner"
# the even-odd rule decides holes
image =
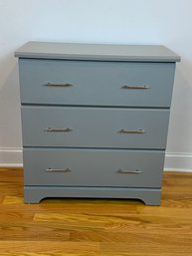
[[[175,63],[163,46],[29,42],[19,58],[24,197],[158,205]]]

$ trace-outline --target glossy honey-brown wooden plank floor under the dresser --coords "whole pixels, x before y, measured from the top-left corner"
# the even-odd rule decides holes
[[[108,199],[24,204],[23,170],[1,168],[0,255],[190,256],[192,173],[164,173],[161,206]]]

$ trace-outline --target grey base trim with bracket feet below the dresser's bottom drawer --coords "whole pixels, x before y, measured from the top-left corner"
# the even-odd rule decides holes
[[[25,186],[24,202],[39,203],[46,197],[123,198],[140,199],[146,205],[159,205],[160,188],[113,188],[113,187],[50,187]]]

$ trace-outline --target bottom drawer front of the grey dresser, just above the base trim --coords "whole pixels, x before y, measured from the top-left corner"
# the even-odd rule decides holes
[[[25,185],[160,187],[163,162],[160,150],[24,148]]]

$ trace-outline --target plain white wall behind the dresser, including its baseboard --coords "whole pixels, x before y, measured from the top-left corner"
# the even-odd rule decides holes
[[[167,168],[192,169],[191,0],[0,0],[0,165],[22,163],[17,60],[29,40],[163,44],[177,65]]]

